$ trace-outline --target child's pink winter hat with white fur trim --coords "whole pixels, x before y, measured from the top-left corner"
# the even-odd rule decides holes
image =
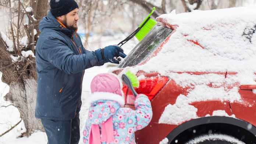
[[[106,99],[117,101],[121,106],[124,105],[124,94],[122,93],[122,82],[114,73],[100,73],[92,79],[92,95],[88,102]]]

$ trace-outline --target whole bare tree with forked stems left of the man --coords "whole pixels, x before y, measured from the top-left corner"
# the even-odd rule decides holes
[[[7,3],[8,2],[8,3]],[[26,132],[24,136],[29,136],[34,130],[42,130],[43,126],[39,119],[35,118],[35,101],[37,88],[37,75],[35,69],[35,58],[32,55],[23,57],[22,50],[32,50],[35,53],[34,46],[36,44],[36,37],[34,29],[37,29],[38,23],[47,12],[47,0],[31,0],[30,6],[33,11],[26,12],[25,3],[21,0],[14,1],[17,6],[13,6],[11,1],[1,3],[4,8],[8,7],[10,15],[10,32],[9,38],[13,41],[14,51],[7,51],[7,44],[0,36],[0,71],[3,72],[3,82],[10,86],[9,93],[4,97],[6,100],[13,103],[18,108],[21,118],[24,122]],[[34,3],[35,2],[35,3]],[[12,6],[11,6],[12,5]],[[28,25],[23,25],[25,16],[28,16]],[[19,37],[24,35],[24,30],[28,36],[29,46],[24,48],[19,44]],[[39,35],[39,31],[37,31]],[[36,36],[37,36],[36,35]],[[14,61],[11,55],[18,56]],[[13,128],[13,127],[12,127]]]

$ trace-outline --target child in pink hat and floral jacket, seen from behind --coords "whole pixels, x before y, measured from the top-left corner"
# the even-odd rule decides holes
[[[93,78],[89,115],[83,131],[84,144],[135,144],[134,132],[152,119],[150,101],[144,94],[135,99],[135,110],[124,106],[122,83],[112,73]]]

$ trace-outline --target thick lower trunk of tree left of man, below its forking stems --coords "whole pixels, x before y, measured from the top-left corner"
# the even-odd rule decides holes
[[[10,86],[10,91],[4,98],[18,108],[26,128],[24,136],[29,136],[35,130],[44,130],[40,120],[35,118],[35,58],[29,56],[13,63],[6,48],[0,37],[0,71],[3,73],[3,82]],[[17,69],[17,65],[21,70]]]

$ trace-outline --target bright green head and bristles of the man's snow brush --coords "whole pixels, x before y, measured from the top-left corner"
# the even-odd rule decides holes
[[[145,21],[147,20],[147,18],[149,18],[149,20],[146,22],[146,24],[141,28],[141,30],[139,30],[138,33],[136,33],[135,37],[141,41],[146,35],[147,33],[149,33],[149,31],[154,27],[154,25],[157,24],[157,22],[154,19],[150,18],[150,15],[153,14],[154,10],[156,8],[153,7],[153,10],[151,11],[151,13],[144,19],[144,21],[141,23],[141,25],[139,25],[139,28],[145,23]]]

